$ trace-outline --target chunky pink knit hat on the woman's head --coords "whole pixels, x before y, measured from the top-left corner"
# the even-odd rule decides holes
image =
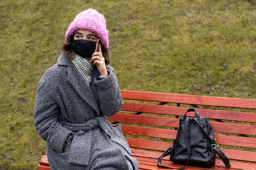
[[[77,30],[90,30],[101,40],[101,44],[108,48],[108,30],[104,16],[95,9],[88,9],[76,15],[73,22],[67,28],[65,39],[69,39]]]

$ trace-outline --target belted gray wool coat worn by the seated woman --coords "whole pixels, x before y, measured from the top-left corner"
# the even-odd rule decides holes
[[[115,115],[123,101],[113,68],[100,78],[94,67],[90,87],[65,54],[46,70],[38,83],[34,123],[46,141],[52,170],[134,170],[138,161],[121,133],[121,126],[111,126],[106,116]],[[69,134],[71,145],[63,145]],[[127,160],[129,162],[127,162]]]

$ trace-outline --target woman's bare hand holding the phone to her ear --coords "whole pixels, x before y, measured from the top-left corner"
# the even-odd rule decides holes
[[[97,65],[97,68],[99,70],[99,73],[101,74],[101,76],[107,77],[108,76],[108,72],[107,72],[107,68],[106,68],[106,64],[105,64],[105,59],[102,55],[101,52],[101,44],[99,44],[99,52],[94,52],[92,54],[92,58],[91,61],[93,61],[93,64]]]

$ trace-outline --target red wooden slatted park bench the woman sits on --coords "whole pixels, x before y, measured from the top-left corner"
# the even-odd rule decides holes
[[[122,124],[132,156],[138,159],[140,169],[164,170],[157,167],[157,159],[172,145],[179,116],[183,116],[189,107],[194,107],[200,116],[210,121],[217,144],[230,160],[229,169],[256,170],[256,100],[124,90],[121,94],[124,107],[108,120],[112,124]],[[194,117],[192,112],[189,116]],[[162,165],[180,167],[168,157]],[[49,169],[47,156],[43,155],[38,170]],[[214,167],[186,169],[226,168],[220,159],[216,159]]]

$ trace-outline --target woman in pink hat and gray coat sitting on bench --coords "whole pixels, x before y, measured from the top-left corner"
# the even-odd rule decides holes
[[[109,65],[104,16],[94,9],[77,14],[62,50],[36,92],[35,127],[46,141],[50,168],[137,170],[120,125],[111,126],[106,118],[115,115],[123,101]]]

